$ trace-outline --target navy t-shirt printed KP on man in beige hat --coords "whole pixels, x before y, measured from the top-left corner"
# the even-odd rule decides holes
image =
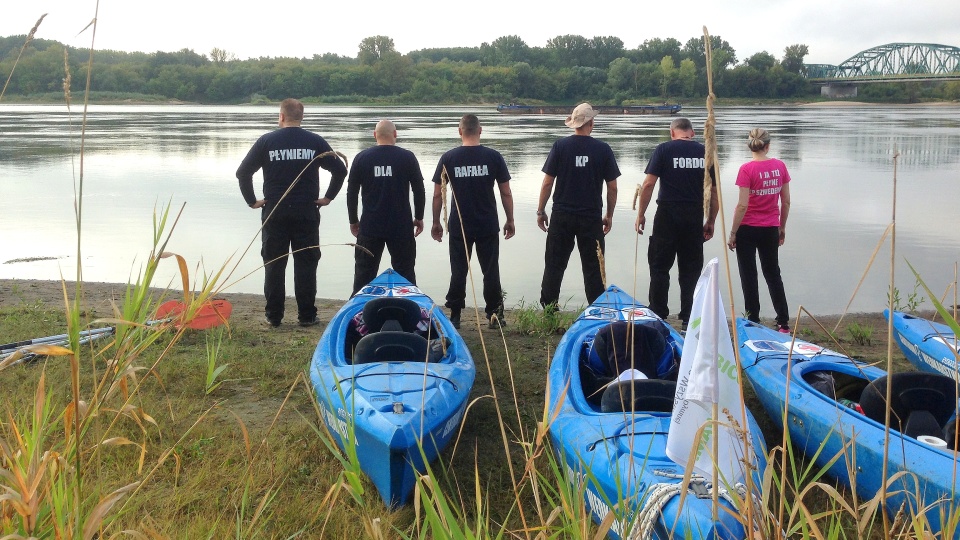
[[[610,145],[589,135],[553,143],[543,172],[556,178],[554,210],[597,218],[603,213],[603,183],[620,177]]]

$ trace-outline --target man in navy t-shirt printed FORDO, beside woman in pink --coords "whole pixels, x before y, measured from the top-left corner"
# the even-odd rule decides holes
[[[693,309],[693,293],[703,269],[703,243],[713,238],[713,225],[720,210],[717,186],[710,192],[710,212],[703,220],[704,147],[693,140],[693,124],[686,118],[670,122],[670,140],[661,143],[650,156],[640,187],[640,210],[636,230],[643,234],[647,206],[653,199],[653,188],[660,182],[657,212],[647,246],[650,265],[650,309],[661,318],[670,314],[667,295],[670,291],[670,270],[677,261],[680,282],[680,325],[687,329]],[[711,172],[712,176],[712,172]]]

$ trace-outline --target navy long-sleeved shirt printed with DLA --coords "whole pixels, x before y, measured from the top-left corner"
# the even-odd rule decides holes
[[[347,214],[350,223],[360,222],[360,234],[396,238],[413,234],[413,215],[423,219],[425,201],[423,173],[413,152],[395,145],[367,148],[353,158],[347,178]],[[357,218],[358,198],[363,215]]]

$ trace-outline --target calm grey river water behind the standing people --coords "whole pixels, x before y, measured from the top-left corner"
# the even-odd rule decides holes
[[[308,107],[304,127],[322,134],[352,160],[373,144],[376,121],[391,118],[399,128],[398,144],[417,155],[429,178],[440,155],[459,144],[456,124],[465,112],[480,116],[483,142],[504,154],[513,175],[517,235],[501,244],[508,306],[536,302],[546,237],[534,215],[543,179],[540,168],[552,142],[570,133],[562,116],[501,116],[492,107]],[[699,136],[705,109],[688,107],[684,114]],[[154,209],[185,205],[168,250],[183,255],[200,272],[224,264],[235,267],[229,290],[260,293],[260,213],[247,208],[234,173],[253,141],[276,125],[276,117],[274,106],[91,107],[82,162],[84,279],[131,279],[149,253]],[[960,259],[960,108],[724,108],[717,120],[727,226],[736,204],[737,169],[750,158],[745,143],[751,128],[772,133],[771,155],[783,159],[790,170],[793,203],[780,256],[791,310],[803,304],[813,313],[831,314],[846,306],[892,220],[896,152],[897,286],[902,296],[914,287],[905,260],[936,291],[953,281]],[[76,277],[80,122],[78,109],[68,114],[61,106],[0,105],[0,278]],[[594,131],[613,147],[623,172],[607,238],[608,281],[636,291],[642,302],[649,282],[647,237],[638,238],[633,231],[636,212],[631,202],[650,153],[668,137],[668,122],[665,117],[601,116]],[[259,175],[254,184],[261,193]],[[338,245],[353,239],[345,192],[322,210],[321,297],[345,298],[352,284],[353,250]],[[432,193],[431,185],[427,193]],[[418,281],[442,303],[449,279],[447,246],[430,238],[429,204],[427,208],[427,230],[417,245]],[[648,219],[654,211],[648,209]],[[708,258],[722,257],[725,251],[719,226],[718,220],[718,237],[706,244]],[[730,260],[739,305],[733,254]],[[883,308],[889,261],[888,240],[852,310]],[[479,293],[479,269],[474,272]],[[161,276],[164,283],[178,279],[175,263],[165,262]],[[674,281],[674,312],[679,309],[676,288]],[[561,298],[570,307],[579,306],[584,302],[582,289],[574,254]],[[772,316],[765,293],[761,302],[761,315]]]

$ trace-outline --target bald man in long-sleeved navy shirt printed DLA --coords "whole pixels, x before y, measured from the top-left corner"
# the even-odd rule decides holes
[[[377,277],[383,248],[390,252],[390,265],[410,283],[417,283],[414,263],[416,237],[423,232],[425,193],[423,173],[413,152],[397,146],[397,127],[381,120],[373,130],[377,145],[357,154],[347,178],[347,213],[354,252],[353,293]],[[410,192],[413,192],[413,212]],[[363,214],[358,217],[359,200]]]

